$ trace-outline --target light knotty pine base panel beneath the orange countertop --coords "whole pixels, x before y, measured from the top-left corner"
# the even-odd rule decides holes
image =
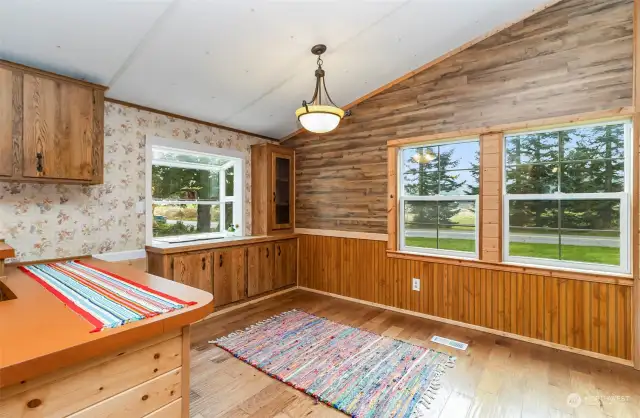
[[[186,327],[3,388],[0,418],[188,418],[188,350]]]

